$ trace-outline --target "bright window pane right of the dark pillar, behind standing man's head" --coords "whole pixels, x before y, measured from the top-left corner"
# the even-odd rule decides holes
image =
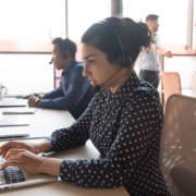
[[[145,22],[148,14],[159,15],[161,45],[176,53],[187,41],[187,0],[123,0],[123,16]]]

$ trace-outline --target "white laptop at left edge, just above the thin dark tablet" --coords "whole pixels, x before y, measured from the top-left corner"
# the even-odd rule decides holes
[[[30,124],[30,114],[23,115],[0,115],[0,126],[23,126]]]

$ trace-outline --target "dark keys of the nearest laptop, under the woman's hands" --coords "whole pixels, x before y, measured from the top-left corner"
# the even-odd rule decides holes
[[[0,156],[0,163],[4,162],[4,158]],[[0,171],[0,185],[24,182],[25,176],[21,169],[17,167],[7,167]]]

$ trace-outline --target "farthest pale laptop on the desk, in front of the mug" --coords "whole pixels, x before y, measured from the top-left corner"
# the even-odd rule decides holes
[[[8,108],[8,107],[26,107],[26,100],[24,99],[3,99],[0,100],[0,108]]]

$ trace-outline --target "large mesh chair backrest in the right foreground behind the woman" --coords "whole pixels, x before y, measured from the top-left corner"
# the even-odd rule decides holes
[[[167,184],[175,196],[182,196],[173,183],[173,167],[196,171],[196,98],[171,95],[167,101],[161,138],[160,166]]]

